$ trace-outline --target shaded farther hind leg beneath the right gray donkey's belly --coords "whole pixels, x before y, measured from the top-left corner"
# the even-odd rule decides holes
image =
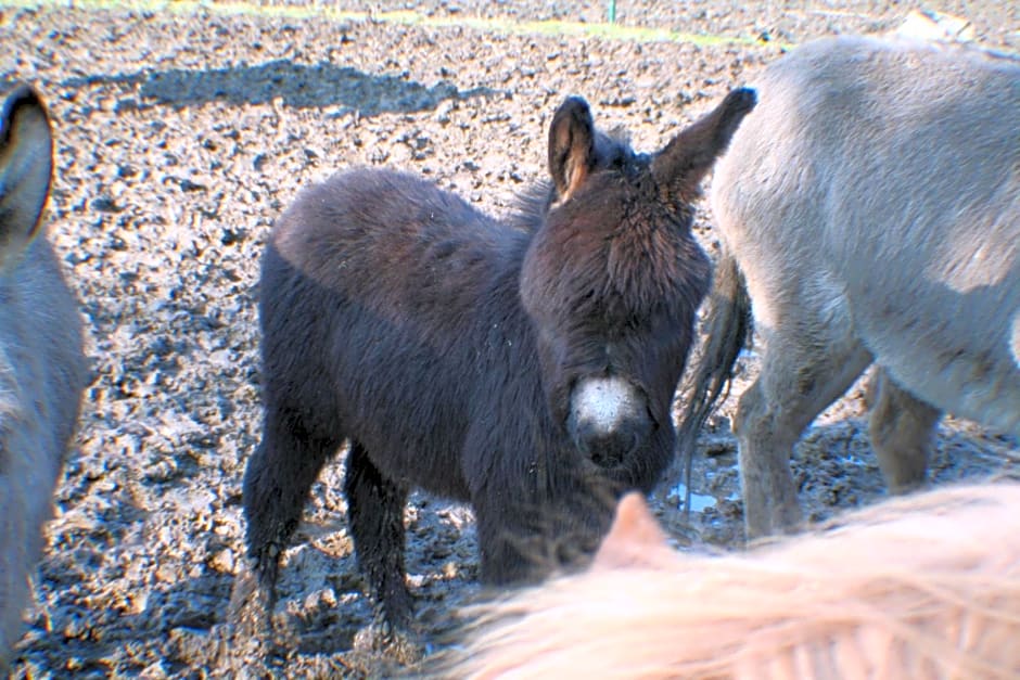
[[[879,469],[891,493],[905,493],[925,484],[935,424],[942,413],[876,371],[868,389],[869,432]]]

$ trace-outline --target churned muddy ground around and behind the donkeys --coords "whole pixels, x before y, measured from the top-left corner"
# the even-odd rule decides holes
[[[256,285],[272,220],[304,185],[355,164],[420,172],[505,214],[543,178],[566,94],[653,150],[785,44],[896,26],[897,2],[620,2],[617,21],[731,41],[633,42],[515,34],[515,22],[598,22],[603,2],[372,2],[340,21],[2,8],[0,79],[48,100],[58,177],[50,232],[91,331],[94,380],[56,496],[49,552],[13,677],[232,677],[259,668],[220,634],[241,565],[241,476],[258,438]],[[753,5],[763,5],[752,9]],[[977,37],[1020,50],[1013,3],[934,2]],[[488,28],[395,23],[502,17]],[[714,240],[707,207],[699,233]],[[741,381],[755,358],[742,360]],[[738,385],[735,394],[739,394]],[[681,544],[741,531],[730,398],[702,438],[692,523],[674,476],[656,511]],[[862,388],[816,423],[794,467],[812,516],[872,502],[882,485]],[[512,414],[507,414],[512,416]],[[1018,445],[961,421],[940,429],[934,477],[992,474]],[[285,554],[276,623],[291,677],[381,676],[348,653],[371,618],[340,495],[343,458],[316,485]],[[681,491],[681,489],[678,489]],[[408,568],[426,639],[476,589],[470,511],[418,495]],[[285,669],[285,670],[284,670]]]

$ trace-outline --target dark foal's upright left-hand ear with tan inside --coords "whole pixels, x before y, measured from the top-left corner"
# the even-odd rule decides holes
[[[595,167],[595,124],[588,103],[570,97],[549,127],[549,175],[560,201],[569,198]]]

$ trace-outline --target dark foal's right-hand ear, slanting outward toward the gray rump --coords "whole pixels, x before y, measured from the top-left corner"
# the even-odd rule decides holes
[[[756,102],[754,90],[734,90],[712,113],[674,137],[652,161],[652,174],[659,184],[674,200],[686,203],[697,198],[701,180],[726,151],[734,132]]]

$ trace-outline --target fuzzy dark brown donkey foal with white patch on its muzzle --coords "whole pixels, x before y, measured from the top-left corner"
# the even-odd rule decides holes
[[[488,583],[594,551],[615,499],[650,490],[671,459],[710,284],[691,203],[754,102],[731,92],[646,155],[568,99],[551,185],[512,223],[388,170],[306,190],[263,260],[264,433],[244,475],[254,601],[271,611],[280,552],[345,440],[358,563],[390,624],[411,614],[412,487],[473,505]]]

